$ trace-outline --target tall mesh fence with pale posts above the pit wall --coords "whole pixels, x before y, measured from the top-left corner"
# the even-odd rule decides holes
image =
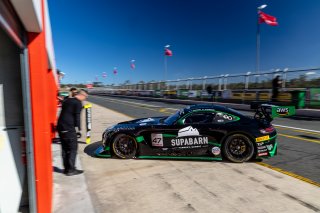
[[[205,90],[211,86],[213,90],[226,89],[271,89],[272,79],[279,75],[282,88],[310,88],[320,85],[320,68],[312,69],[277,69],[259,74],[247,72],[245,74],[223,74],[218,76],[203,76],[196,78],[140,82],[136,84],[107,85],[112,89],[131,90]]]

